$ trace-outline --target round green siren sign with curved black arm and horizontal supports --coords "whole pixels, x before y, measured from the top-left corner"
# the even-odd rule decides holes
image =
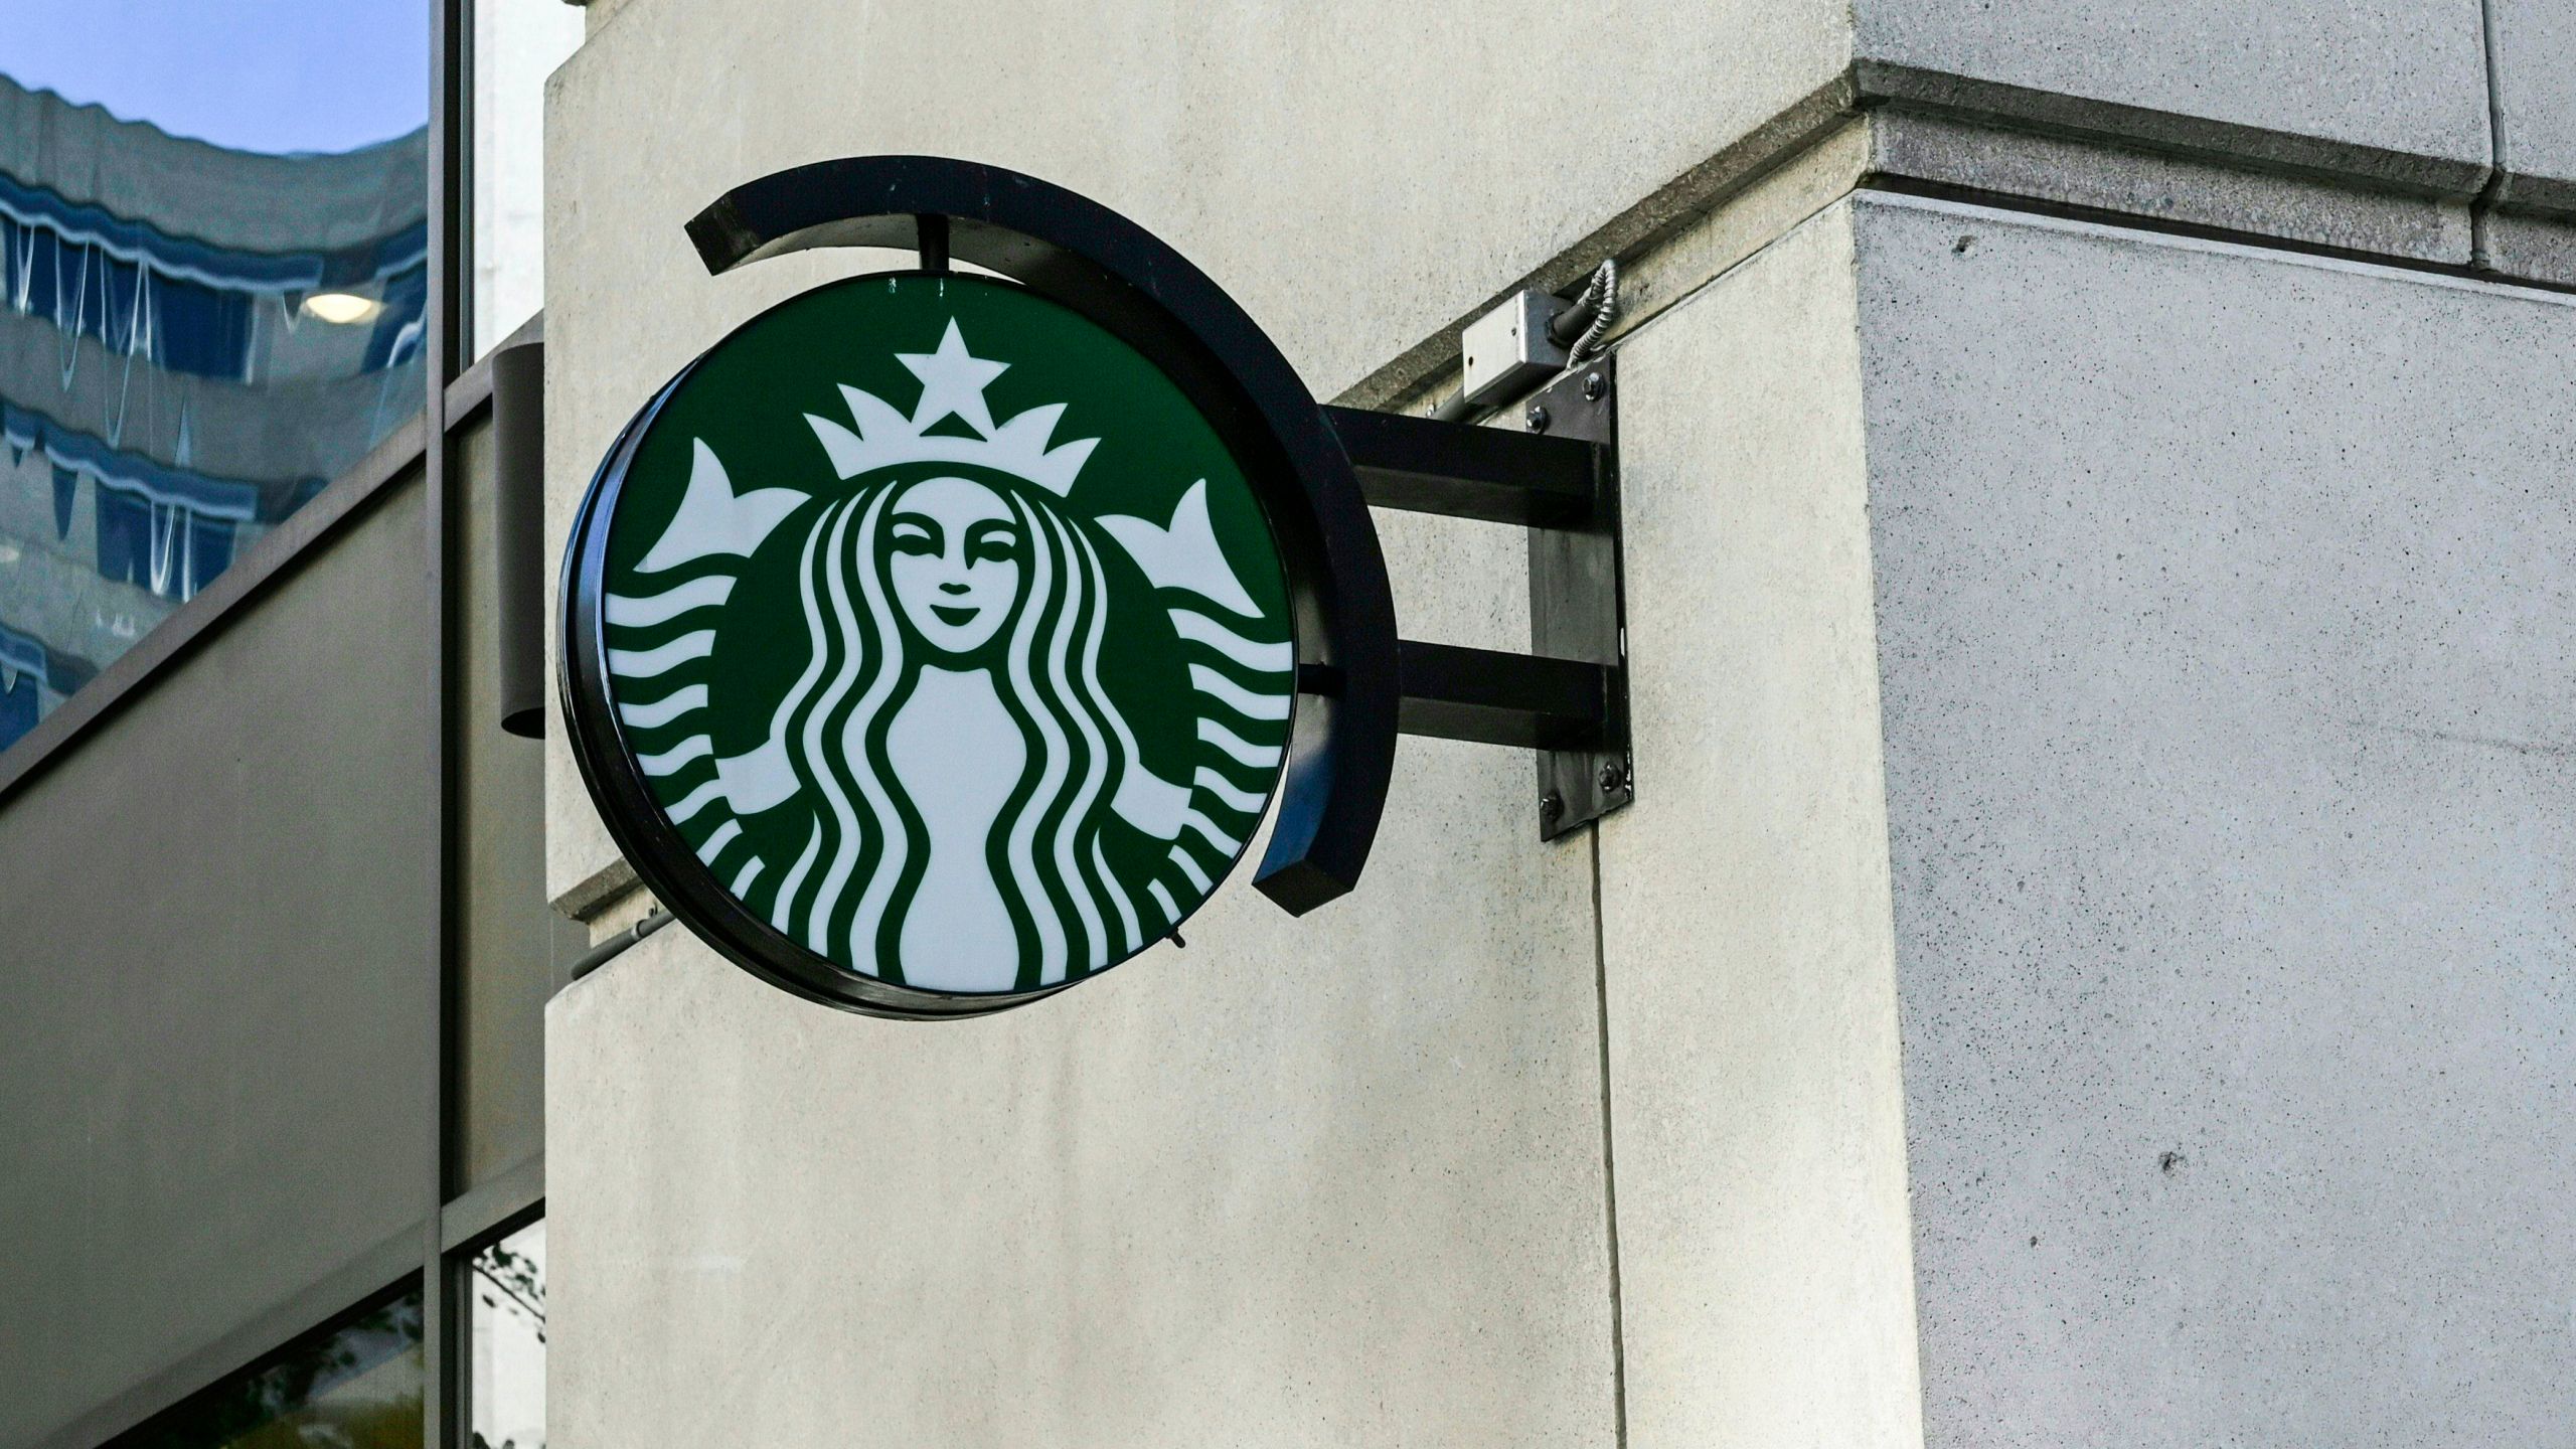
[[[1492,431],[1321,407],[1108,206],[840,157],[734,186],[688,237],[716,273],[920,263],[698,353],[564,544],[582,784],[652,897],[760,980],[871,1016],[1020,1006],[1177,941],[1255,835],[1249,884],[1303,915],[1358,884],[1399,727],[1582,712],[1582,665],[1533,686],[1396,639],[1347,428],[1399,495],[1502,518]],[[1417,673],[1448,691],[1419,717]]]

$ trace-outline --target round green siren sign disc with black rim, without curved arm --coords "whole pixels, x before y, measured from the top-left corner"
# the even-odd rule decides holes
[[[1172,936],[1291,732],[1288,580],[1221,431],[1007,281],[860,276],[724,338],[600,469],[572,596],[636,871],[840,1006],[989,1011]]]

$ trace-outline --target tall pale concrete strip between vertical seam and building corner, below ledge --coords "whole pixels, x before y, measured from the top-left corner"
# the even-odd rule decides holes
[[[1620,353],[1628,1444],[1919,1444],[1850,206]]]

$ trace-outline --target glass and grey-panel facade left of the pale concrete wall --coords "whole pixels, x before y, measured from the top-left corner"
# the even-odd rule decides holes
[[[500,727],[492,356],[580,21],[10,13],[0,1444],[541,1436],[580,931]]]

